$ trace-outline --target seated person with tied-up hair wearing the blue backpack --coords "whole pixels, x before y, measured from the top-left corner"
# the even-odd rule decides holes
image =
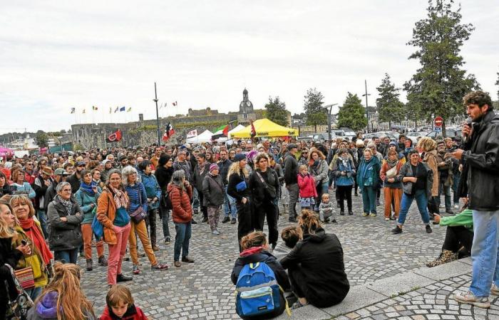
[[[242,237],[241,247],[242,252],[240,253],[240,257],[237,258],[234,268],[232,268],[232,274],[230,275],[233,284],[237,283],[237,278],[245,265],[255,262],[265,262],[274,272],[277,284],[279,284],[285,292],[291,289],[286,271],[284,271],[276,257],[269,252],[269,243],[267,242],[266,235],[262,233],[262,231],[253,231]],[[265,314],[264,316],[252,316],[243,319],[272,319],[279,316],[279,314],[282,314],[284,309],[286,309],[284,294],[281,294],[279,305],[279,309],[276,309],[269,314]]]

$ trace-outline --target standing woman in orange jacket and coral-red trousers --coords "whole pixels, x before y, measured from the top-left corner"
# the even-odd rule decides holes
[[[129,200],[121,184],[120,171],[109,171],[107,181],[97,201],[97,219],[103,225],[103,240],[108,244],[108,284],[112,286],[132,279],[121,273],[130,234],[130,216],[126,211]]]

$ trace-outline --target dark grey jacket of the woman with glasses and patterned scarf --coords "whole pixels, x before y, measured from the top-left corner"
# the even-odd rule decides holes
[[[68,215],[66,208],[58,201],[57,197],[48,204],[48,223],[51,226],[48,245],[52,251],[77,249],[83,243],[80,226],[81,221],[83,221],[83,213],[74,198],[71,197],[70,200],[73,203],[71,215]],[[76,213],[79,213],[79,215],[76,215]],[[61,221],[63,217],[68,220],[66,222]]]

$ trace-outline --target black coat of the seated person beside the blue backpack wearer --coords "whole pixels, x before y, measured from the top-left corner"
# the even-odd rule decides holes
[[[322,228],[315,234],[304,234],[292,252],[281,259],[281,265],[290,274],[294,269],[303,270],[305,297],[319,308],[339,304],[349,292],[341,243]]]

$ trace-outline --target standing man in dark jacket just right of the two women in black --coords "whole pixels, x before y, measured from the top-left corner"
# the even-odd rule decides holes
[[[294,156],[298,152],[296,144],[288,145],[289,152],[284,156],[284,183],[289,191],[289,222],[297,222],[298,202],[298,161]]]

